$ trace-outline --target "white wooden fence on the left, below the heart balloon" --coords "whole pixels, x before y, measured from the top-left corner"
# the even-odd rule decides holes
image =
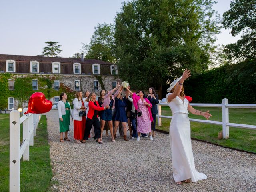
[[[23,114],[28,108],[23,109]],[[26,114],[20,117],[20,112],[10,112],[10,192],[20,191],[20,159],[29,160],[29,146],[34,145],[36,128],[41,114]],[[23,123],[22,143],[20,144],[20,124]]]

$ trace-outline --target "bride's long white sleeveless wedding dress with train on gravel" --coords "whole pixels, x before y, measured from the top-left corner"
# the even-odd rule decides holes
[[[166,101],[168,103],[168,93]],[[188,100],[178,96],[168,103],[172,110],[170,123],[170,145],[172,152],[172,173],[175,182],[191,179],[192,182],[207,179],[203,173],[196,171],[190,138],[188,118]]]

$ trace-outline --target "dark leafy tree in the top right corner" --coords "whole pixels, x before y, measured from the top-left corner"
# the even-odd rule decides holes
[[[232,36],[242,32],[241,39],[224,48],[228,59],[243,61],[256,58],[256,0],[232,0],[223,14],[222,24]]]

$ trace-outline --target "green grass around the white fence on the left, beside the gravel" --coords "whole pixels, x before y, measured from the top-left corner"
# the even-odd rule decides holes
[[[0,191],[9,191],[9,114],[0,114]],[[20,129],[22,137],[22,128]],[[42,116],[34,146],[30,147],[30,160],[20,162],[20,191],[48,191],[52,169],[50,146],[47,141],[46,116]]]

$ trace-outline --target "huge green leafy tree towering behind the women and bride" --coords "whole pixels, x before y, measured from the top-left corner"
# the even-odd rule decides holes
[[[206,70],[219,32],[212,0],[132,0],[115,18],[118,74],[133,88]]]

